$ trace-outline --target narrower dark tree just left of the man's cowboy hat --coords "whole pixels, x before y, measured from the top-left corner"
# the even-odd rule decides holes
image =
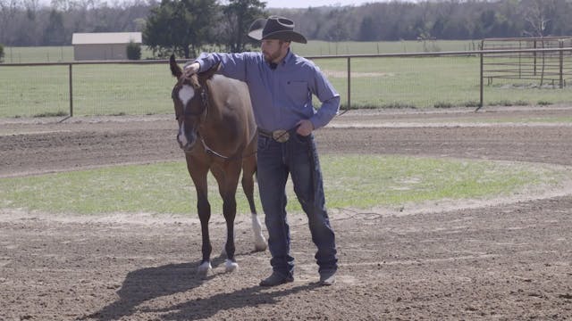
[[[259,0],[229,0],[223,6],[223,21],[221,43],[231,53],[246,50],[246,45],[252,40],[248,37],[248,27],[257,18],[264,15],[266,4]]]

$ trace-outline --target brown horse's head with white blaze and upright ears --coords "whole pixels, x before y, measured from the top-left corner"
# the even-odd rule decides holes
[[[210,103],[206,80],[213,77],[219,66],[216,65],[210,70],[186,78],[175,61],[174,54],[171,55],[169,64],[172,76],[177,78],[171,93],[175,118],[179,122],[177,142],[183,151],[190,152],[197,144],[199,129],[208,116]]]

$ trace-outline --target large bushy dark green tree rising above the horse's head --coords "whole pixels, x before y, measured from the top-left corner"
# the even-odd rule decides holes
[[[170,52],[189,59],[213,41],[216,0],[163,0],[147,16],[143,43],[165,57]]]

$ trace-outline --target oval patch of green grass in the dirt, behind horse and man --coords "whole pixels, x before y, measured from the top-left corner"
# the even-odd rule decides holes
[[[324,155],[322,167],[329,208],[509,196],[534,188],[557,188],[572,176],[565,169],[538,164],[374,155]],[[220,196],[214,178],[209,179],[212,209],[220,213]],[[299,212],[290,184],[287,189],[288,210]],[[181,161],[0,179],[0,208],[83,215],[189,214],[196,212],[195,204],[194,187]],[[241,189],[238,211],[248,213]]]

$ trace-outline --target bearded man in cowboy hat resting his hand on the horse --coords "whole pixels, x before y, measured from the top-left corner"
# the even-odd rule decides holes
[[[290,42],[306,44],[294,22],[271,16],[258,19],[248,37],[261,41],[260,53],[201,53],[185,66],[187,76],[221,63],[220,73],[248,84],[257,120],[257,180],[265,211],[273,273],[262,286],[294,280],[285,185],[290,174],[294,192],[306,212],[317,252],[320,284],[332,285],[338,268],[335,235],[325,208],[322,171],[312,131],[324,127],[339,111],[340,95],[313,62],[290,51]],[[312,95],[322,103],[317,111]]]

